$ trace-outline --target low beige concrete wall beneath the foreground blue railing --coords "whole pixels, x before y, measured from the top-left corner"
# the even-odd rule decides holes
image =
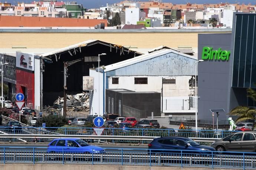
[[[208,170],[201,167],[172,167],[172,166],[113,166],[113,165],[91,165],[91,164],[2,164],[0,170]],[[215,170],[221,170],[214,168]],[[226,169],[230,170],[230,169]]]

